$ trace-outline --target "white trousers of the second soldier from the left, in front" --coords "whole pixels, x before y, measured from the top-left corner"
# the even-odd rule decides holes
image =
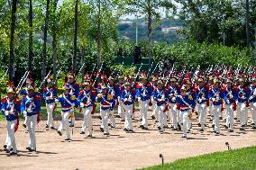
[[[30,133],[29,147],[32,149],[36,149],[35,126],[37,124],[37,116],[37,114],[27,116],[27,122],[29,124],[28,129]]]

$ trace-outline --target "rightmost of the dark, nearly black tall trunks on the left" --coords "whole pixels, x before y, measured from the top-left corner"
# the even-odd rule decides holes
[[[72,59],[73,74],[76,74],[77,56],[78,56],[78,0],[76,0],[76,5],[75,5],[74,51],[73,51],[73,59]]]

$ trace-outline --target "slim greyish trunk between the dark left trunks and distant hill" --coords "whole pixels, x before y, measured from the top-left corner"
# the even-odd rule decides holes
[[[101,4],[98,2],[98,20],[97,20],[97,70],[101,64]]]

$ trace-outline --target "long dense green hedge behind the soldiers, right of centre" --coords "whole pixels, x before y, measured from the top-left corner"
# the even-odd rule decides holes
[[[140,42],[142,47],[142,58],[148,56],[148,46],[146,42]],[[118,48],[123,48],[119,57],[133,57],[132,43],[119,44]],[[195,41],[181,41],[176,44],[158,43],[152,46],[152,58],[157,62],[167,61],[170,58],[176,58],[175,65],[180,69],[183,66],[194,67],[198,65],[206,69],[209,65],[229,65],[237,67],[256,66],[255,57],[252,55],[252,49],[240,49],[235,47],[226,47],[220,44],[197,43]]]

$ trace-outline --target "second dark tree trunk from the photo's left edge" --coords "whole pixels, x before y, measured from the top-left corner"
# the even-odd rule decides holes
[[[32,0],[30,0],[30,11],[29,11],[29,23],[30,23],[30,34],[29,34],[29,58],[28,58],[28,70],[32,71]]]

